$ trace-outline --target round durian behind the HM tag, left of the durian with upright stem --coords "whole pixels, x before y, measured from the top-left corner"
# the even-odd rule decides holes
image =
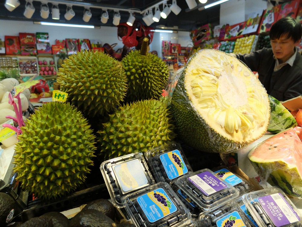
[[[59,69],[60,90],[85,116],[103,115],[120,106],[127,91],[122,64],[104,52],[69,55]]]

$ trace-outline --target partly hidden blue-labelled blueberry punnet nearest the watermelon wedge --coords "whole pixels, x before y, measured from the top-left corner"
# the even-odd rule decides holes
[[[226,166],[212,169],[213,172],[230,185],[234,186],[239,192],[239,196],[253,190],[252,185],[236,173],[232,173]]]

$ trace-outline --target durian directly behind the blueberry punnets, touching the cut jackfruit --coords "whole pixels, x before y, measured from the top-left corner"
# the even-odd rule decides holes
[[[174,124],[164,100],[126,104],[110,115],[100,130],[101,155],[106,159],[147,150],[174,140]]]

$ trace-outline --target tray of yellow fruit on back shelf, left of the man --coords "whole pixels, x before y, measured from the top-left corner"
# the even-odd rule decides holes
[[[234,47],[234,54],[248,54],[254,51],[256,48],[256,43],[258,40],[258,35],[250,35],[243,38],[238,38]]]

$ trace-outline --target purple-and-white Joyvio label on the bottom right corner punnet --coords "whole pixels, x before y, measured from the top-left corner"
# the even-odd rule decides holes
[[[258,198],[262,209],[277,227],[298,222],[300,217],[280,193]]]

